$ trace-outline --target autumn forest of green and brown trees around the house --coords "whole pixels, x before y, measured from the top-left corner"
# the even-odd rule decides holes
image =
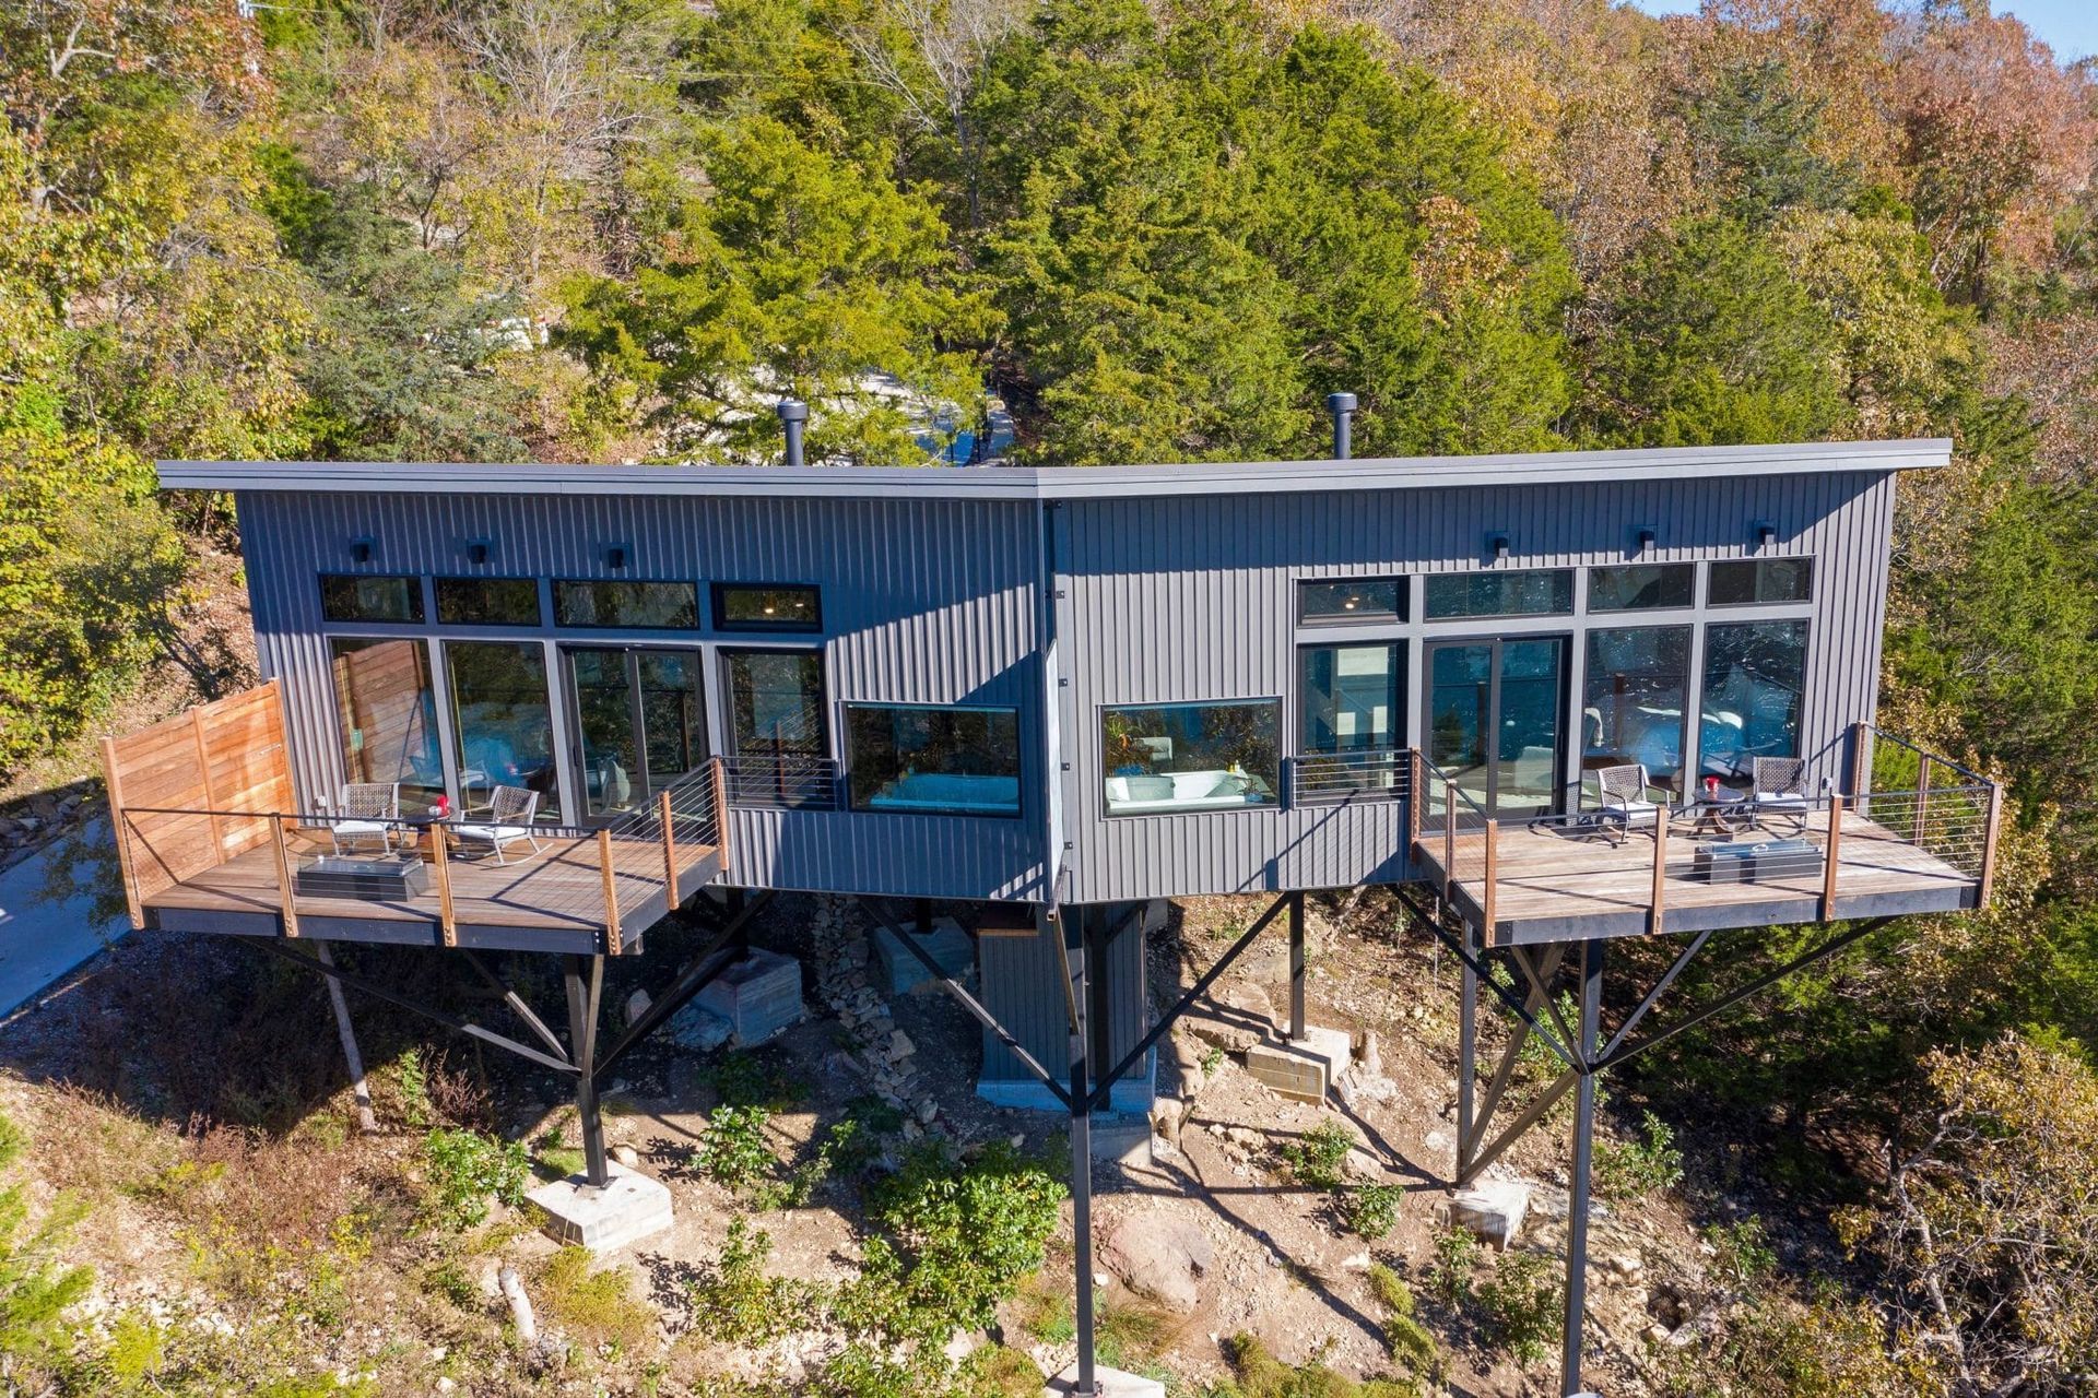
[[[1775,1102],[1878,1279],[1739,1392],[2085,1392],[2088,63],[1985,0],[0,0],[0,778],[227,528],[155,457],[770,461],[793,392],[921,461],[871,375],[1076,465],[1332,390],[1362,455],[1951,436],[1882,711],[2012,782],[2001,901],[1649,1073]]]

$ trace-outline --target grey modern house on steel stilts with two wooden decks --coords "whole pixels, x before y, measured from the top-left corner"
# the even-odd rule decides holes
[[[1091,1113],[1148,1107],[1211,979],[1158,1012],[1143,905],[1271,897],[1217,968],[1292,939],[1280,1044],[1305,893],[1395,884],[1464,964],[1458,1182],[1576,1094],[1571,1394],[1597,1075],[1769,983],[1657,1010],[1676,970],[1989,897],[1999,788],[1874,727],[1894,482],[1947,457],[166,463],[237,497],[266,683],[105,744],[126,895],[338,977],[298,943],[564,958],[566,1033],[514,996],[520,1037],[451,1025],[573,1077],[596,1182],[596,1084],[770,891],[971,903],[978,989],[944,985],[980,1090],[1070,1113],[1085,1279]],[[680,905],[720,935],[600,1042],[604,958]],[[1683,952],[1605,1025],[1618,937]],[[1500,1071],[1481,987],[1517,1021]],[[1502,1119],[1527,1035],[1565,1073]]]

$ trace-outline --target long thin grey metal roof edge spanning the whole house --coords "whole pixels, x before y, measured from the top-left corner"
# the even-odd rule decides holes
[[[183,490],[342,495],[713,495],[932,497],[973,501],[1127,499],[1154,495],[1297,495],[1683,480],[1714,474],[1811,476],[1947,465],[1951,438],[1668,446],[1481,457],[1353,461],[1227,461],[1185,465],[449,465],[367,461],[162,461],[159,484]]]

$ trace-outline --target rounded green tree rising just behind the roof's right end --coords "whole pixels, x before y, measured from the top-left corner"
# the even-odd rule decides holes
[[[1811,442],[1844,419],[1829,312],[1735,220],[1649,239],[1609,316],[1578,415],[1588,444]]]

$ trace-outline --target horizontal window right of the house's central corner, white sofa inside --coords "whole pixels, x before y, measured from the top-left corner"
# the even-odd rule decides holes
[[[1131,704],[1101,711],[1108,811],[1276,805],[1282,704]]]

